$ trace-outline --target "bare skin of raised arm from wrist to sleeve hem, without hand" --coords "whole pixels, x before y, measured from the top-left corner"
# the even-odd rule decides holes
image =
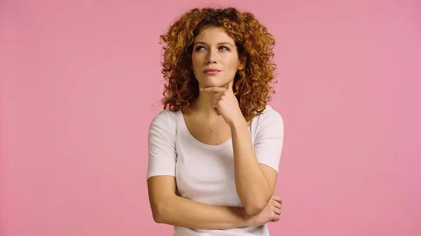
[[[255,155],[246,120],[230,125],[234,149],[236,191],[247,214],[257,214],[274,193],[277,172]]]

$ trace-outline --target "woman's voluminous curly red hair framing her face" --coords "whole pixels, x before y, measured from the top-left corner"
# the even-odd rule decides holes
[[[189,66],[194,38],[208,27],[224,28],[236,42],[239,55],[246,56],[246,67],[234,77],[233,91],[241,113],[250,121],[265,111],[274,93],[269,83],[276,83],[276,64],[272,63],[275,41],[252,13],[240,13],[236,8],[194,8],[160,36],[160,43],[166,43],[161,73],[168,81],[161,100],[163,109],[179,111],[199,97],[199,83]]]

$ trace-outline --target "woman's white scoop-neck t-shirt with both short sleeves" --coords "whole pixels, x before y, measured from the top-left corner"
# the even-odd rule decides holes
[[[258,162],[278,172],[283,146],[283,119],[267,105],[249,126]],[[181,197],[226,207],[243,207],[236,193],[232,139],[203,144],[187,129],[181,111],[162,110],[149,126],[147,178],[175,176]],[[267,236],[267,224],[226,230],[174,227],[175,236]]]

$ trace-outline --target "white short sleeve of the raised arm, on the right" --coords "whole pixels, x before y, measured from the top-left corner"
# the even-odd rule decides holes
[[[254,148],[258,162],[279,172],[283,146],[283,119],[273,109],[260,114]]]

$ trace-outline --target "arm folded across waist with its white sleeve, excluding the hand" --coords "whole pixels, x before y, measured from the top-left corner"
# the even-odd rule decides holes
[[[236,228],[250,223],[243,208],[212,206],[176,195],[176,125],[169,111],[161,111],[149,126],[147,186],[154,221],[200,229]]]

